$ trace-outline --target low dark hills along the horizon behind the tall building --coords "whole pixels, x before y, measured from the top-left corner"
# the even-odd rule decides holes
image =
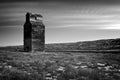
[[[23,51],[23,45],[1,47],[0,50]],[[74,42],[74,43],[45,44],[45,50],[46,51],[90,51],[90,50],[120,51],[120,38],[103,39],[103,40],[95,40],[95,41],[82,41],[82,42]]]

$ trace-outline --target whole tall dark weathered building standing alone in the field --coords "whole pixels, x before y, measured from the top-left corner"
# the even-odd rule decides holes
[[[45,26],[40,14],[26,14],[24,24],[24,51],[44,51]]]

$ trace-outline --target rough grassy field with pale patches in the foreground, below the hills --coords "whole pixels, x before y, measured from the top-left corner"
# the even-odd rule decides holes
[[[0,80],[120,80],[120,54],[0,51]]]

